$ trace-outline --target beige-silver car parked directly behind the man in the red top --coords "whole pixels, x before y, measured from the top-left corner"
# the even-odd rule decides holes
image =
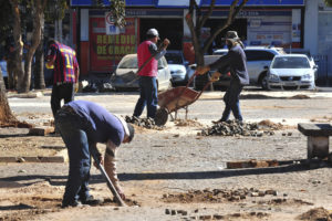
[[[137,54],[125,55],[111,76],[112,86],[117,91],[138,90],[138,77],[135,74],[137,70]],[[164,56],[158,60],[157,86],[158,91],[165,91],[172,87],[172,75]]]

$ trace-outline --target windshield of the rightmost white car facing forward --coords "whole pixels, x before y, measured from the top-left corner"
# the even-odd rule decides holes
[[[310,69],[305,57],[276,57],[272,69]]]

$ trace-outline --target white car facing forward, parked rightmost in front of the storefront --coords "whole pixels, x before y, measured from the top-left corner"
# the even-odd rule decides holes
[[[267,77],[268,90],[313,90],[314,70],[305,54],[276,55]]]

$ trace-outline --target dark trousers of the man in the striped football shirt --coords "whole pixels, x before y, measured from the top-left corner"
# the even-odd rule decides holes
[[[64,104],[74,101],[74,84],[64,83],[60,85],[53,85],[51,95],[51,108],[53,117],[55,118],[56,112],[61,108],[61,101],[64,99]]]

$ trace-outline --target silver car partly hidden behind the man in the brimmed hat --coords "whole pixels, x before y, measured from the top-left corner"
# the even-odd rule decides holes
[[[228,49],[216,50],[214,54],[225,55]],[[247,69],[250,78],[250,85],[259,85],[267,90],[267,69],[272,59],[278,54],[286,54],[282,48],[274,46],[247,46],[245,48],[247,56]]]

